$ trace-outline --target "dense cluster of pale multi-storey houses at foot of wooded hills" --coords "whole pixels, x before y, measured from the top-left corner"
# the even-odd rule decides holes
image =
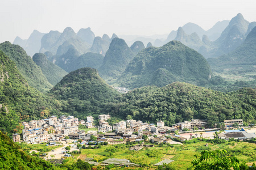
[[[143,135],[163,135],[167,131],[174,132],[184,128],[193,129],[195,127],[202,128],[207,126],[205,120],[184,121],[172,125],[172,127],[164,126],[163,121],[158,121],[155,124],[147,124],[146,122],[136,120],[120,121],[113,126],[109,125],[111,117],[109,114],[101,114],[98,116],[98,133],[85,133],[79,130],[79,125],[85,125],[87,128],[94,128],[94,119],[92,116],[86,117],[87,121],[80,120],[74,116],[51,116],[44,120],[32,120],[30,122],[22,122],[24,129],[22,130],[23,141],[27,143],[42,143],[48,141],[60,141],[68,136],[70,139],[82,139],[85,142],[91,141],[90,137],[94,135],[101,142],[108,141],[110,144],[134,142],[142,140]],[[225,120],[225,126],[229,127],[234,123],[242,125],[242,120]],[[175,136],[184,141],[182,137]],[[125,139],[120,140],[118,139]],[[161,137],[152,138],[153,143],[168,142]],[[13,141],[19,142],[20,135],[13,134]]]

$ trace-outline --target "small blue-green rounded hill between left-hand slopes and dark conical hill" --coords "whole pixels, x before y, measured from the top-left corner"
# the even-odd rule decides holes
[[[33,61],[41,68],[48,82],[51,83],[53,86],[59,83],[60,80],[68,74],[66,71],[49,61],[46,55],[42,53],[36,53],[33,56]]]

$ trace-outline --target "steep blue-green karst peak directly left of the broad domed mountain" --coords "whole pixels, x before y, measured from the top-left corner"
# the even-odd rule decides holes
[[[125,40],[114,38],[106,52],[102,66],[98,69],[101,77],[107,82],[108,79],[117,79],[134,56],[135,54]]]

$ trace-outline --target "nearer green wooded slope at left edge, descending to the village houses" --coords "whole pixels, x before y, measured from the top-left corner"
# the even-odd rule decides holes
[[[21,133],[21,121],[59,115],[61,104],[28,86],[16,65],[0,51],[0,130]]]

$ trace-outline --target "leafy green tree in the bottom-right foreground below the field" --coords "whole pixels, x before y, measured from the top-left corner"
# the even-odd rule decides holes
[[[240,169],[239,160],[234,156],[227,156],[226,154],[226,150],[202,151],[201,156],[195,155],[196,159],[192,160],[193,167],[195,167],[195,170]]]

